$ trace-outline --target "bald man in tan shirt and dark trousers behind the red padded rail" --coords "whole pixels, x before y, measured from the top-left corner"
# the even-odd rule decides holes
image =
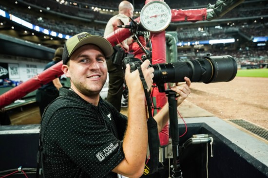
[[[110,18],[108,21],[104,37],[113,33],[119,25],[128,25],[130,17],[133,18],[134,7],[132,3],[127,0],[120,2],[118,6],[118,14]],[[129,51],[129,45],[132,43],[132,38],[129,38],[121,44],[115,46],[115,53],[112,56],[112,60],[107,61],[107,67],[109,72],[109,89],[107,101],[110,102],[118,111],[121,109],[121,99],[123,94],[124,76],[122,71],[122,59],[124,53]],[[123,49],[121,48],[123,47]]]

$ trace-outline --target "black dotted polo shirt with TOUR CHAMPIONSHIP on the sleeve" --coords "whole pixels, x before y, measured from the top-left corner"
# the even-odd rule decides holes
[[[98,106],[60,88],[41,122],[45,178],[116,178],[123,159],[126,116],[102,100]]]

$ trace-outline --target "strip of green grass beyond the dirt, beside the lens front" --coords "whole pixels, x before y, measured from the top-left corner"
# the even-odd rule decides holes
[[[268,69],[244,69],[238,70],[238,77],[268,77]]]

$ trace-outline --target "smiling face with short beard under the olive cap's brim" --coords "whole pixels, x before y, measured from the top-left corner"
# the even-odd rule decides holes
[[[69,66],[64,68],[72,88],[86,96],[98,95],[107,79],[104,54],[93,44],[78,48],[70,57]]]

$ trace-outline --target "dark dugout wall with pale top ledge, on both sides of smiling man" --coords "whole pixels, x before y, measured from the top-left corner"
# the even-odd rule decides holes
[[[180,157],[183,178],[267,178],[268,144],[249,133],[241,131],[217,117],[187,118],[188,131],[180,138],[180,145],[194,134],[208,134],[210,143],[188,146]],[[185,132],[179,122],[179,133]],[[9,169],[37,167],[39,125],[0,126],[0,172]],[[25,171],[27,172],[27,171]],[[168,178],[168,168],[148,176]],[[157,175],[159,174],[159,175]],[[0,175],[2,176],[2,174]],[[27,173],[29,178],[35,174]],[[13,175],[12,177],[21,177]],[[160,178],[160,177],[159,177]]]

